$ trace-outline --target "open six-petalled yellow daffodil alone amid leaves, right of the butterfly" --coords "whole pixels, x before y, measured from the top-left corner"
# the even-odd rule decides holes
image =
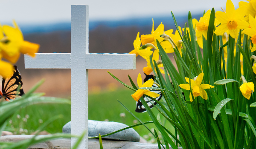
[[[202,72],[201,74],[198,75],[198,77],[195,77],[194,80],[190,79],[191,81],[191,88],[192,88],[192,93],[194,97],[201,96],[205,100],[207,100],[207,93],[204,89],[210,89],[214,88],[214,86],[211,86],[209,84],[201,84],[202,80],[204,77],[204,73]],[[185,77],[185,80],[187,83],[189,83],[189,78]],[[180,88],[190,90],[189,84],[180,84]],[[192,95],[190,93],[189,95],[190,101],[192,102]]]

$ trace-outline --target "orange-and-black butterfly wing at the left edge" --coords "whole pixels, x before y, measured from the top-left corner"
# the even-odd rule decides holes
[[[2,92],[5,100],[9,101],[15,98],[20,98],[24,94],[22,84],[20,72],[18,71],[17,66],[14,66],[12,75],[2,80]],[[20,89],[17,91],[19,86]]]

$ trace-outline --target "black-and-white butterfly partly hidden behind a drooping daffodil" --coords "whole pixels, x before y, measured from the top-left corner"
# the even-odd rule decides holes
[[[154,80],[154,75],[147,75],[147,74],[145,74],[146,75],[146,77],[145,77],[145,79],[143,80],[144,81],[144,83],[147,81],[147,80],[149,80],[149,79],[153,79]],[[154,80],[155,81],[155,80]],[[152,87],[158,87],[156,84],[153,84],[153,86]],[[161,93],[161,91],[159,91],[159,90],[150,90],[151,92],[155,92],[155,93],[157,93],[157,94],[159,94],[160,96],[159,97],[156,97],[155,99],[156,100],[160,100],[162,97],[163,97],[163,95],[162,95],[162,93]],[[148,98],[148,97],[145,97],[145,96],[143,96],[144,97],[144,99],[145,99],[145,101],[147,102],[147,104],[148,104],[148,106],[150,107],[150,108],[153,108],[154,107],[154,105],[156,105],[157,103],[154,101],[154,100],[151,100],[150,98]],[[150,102],[150,101],[151,102]],[[154,105],[153,105],[153,104]],[[135,112],[138,112],[138,113],[141,113],[141,112],[146,112],[147,110],[145,109],[145,107],[143,106],[143,104],[141,103],[141,101],[139,100],[139,101],[137,101],[136,102],[136,109],[135,109]]]

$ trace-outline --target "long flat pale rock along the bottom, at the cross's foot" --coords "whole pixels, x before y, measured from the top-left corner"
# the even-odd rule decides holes
[[[0,142],[17,142],[32,137],[34,135],[7,135],[0,137]],[[36,138],[42,137],[45,136],[37,136]],[[28,149],[70,149],[70,143],[70,139],[59,138],[29,146]],[[103,149],[158,149],[157,144],[130,141],[102,140],[102,144]],[[88,149],[99,149],[99,139],[88,139]],[[170,149],[172,148],[170,147]],[[178,147],[178,149],[182,148]]]

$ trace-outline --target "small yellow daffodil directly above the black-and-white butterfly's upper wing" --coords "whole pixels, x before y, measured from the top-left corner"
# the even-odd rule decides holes
[[[153,72],[153,69],[152,69],[152,67],[150,65],[150,60],[149,59],[146,59],[146,60],[148,62],[147,63],[148,66],[143,68],[143,72],[145,74],[149,75],[151,72]],[[157,50],[154,51],[153,56],[152,56],[152,60],[153,61],[155,60],[157,62],[157,67],[159,68],[160,72],[164,74],[163,69],[160,69],[160,67],[163,67],[163,63],[161,61],[159,61],[159,53],[157,52]],[[153,63],[153,65],[154,65],[154,63]]]

